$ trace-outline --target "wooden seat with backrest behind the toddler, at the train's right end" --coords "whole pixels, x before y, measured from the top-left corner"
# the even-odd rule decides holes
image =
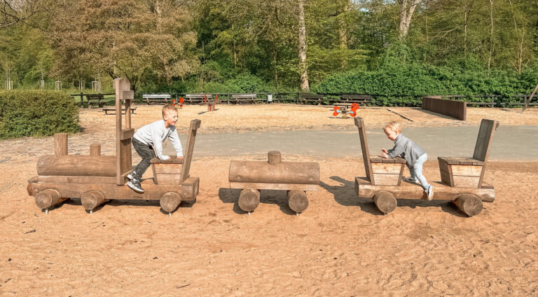
[[[438,157],[441,182],[456,188],[482,188],[485,163],[490,154],[493,133],[498,128],[497,120],[482,119],[472,158]]]

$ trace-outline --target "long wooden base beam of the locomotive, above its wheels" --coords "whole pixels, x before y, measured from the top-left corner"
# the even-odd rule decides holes
[[[53,188],[60,193],[62,198],[81,198],[87,191],[100,191],[106,199],[125,200],[160,200],[167,192],[180,193],[185,201],[194,200],[199,191],[200,179],[191,177],[188,182],[181,185],[156,185],[152,179],[142,182],[144,193],[132,191],[127,186],[116,184],[76,184],[76,183],[34,183],[29,184],[33,193],[39,193]]]

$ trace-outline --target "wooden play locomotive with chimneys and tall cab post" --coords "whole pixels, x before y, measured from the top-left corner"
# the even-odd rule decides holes
[[[145,192],[140,194],[125,186],[127,174],[132,170],[131,138],[135,130],[131,127],[129,110],[134,92],[127,78],[113,81],[116,90],[116,156],[102,156],[101,145],[90,146],[90,156],[67,153],[67,134],[54,135],[53,156],[41,156],[37,161],[37,173],[28,181],[27,191],[33,195],[36,205],[48,209],[69,198],[81,198],[83,207],[93,213],[95,207],[112,199],[160,200],[160,206],[170,216],[181,201],[194,201],[198,195],[200,179],[191,177],[191,160],[200,120],[192,120],[188,131],[184,160],[152,160],[153,179],[143,181]]]

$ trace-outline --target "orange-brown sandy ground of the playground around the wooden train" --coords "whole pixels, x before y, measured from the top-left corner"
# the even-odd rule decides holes
[[[191,106],[181,111],[178,126],[195,117],[204,132],[340,125],[329,109],[276,109],[221,106],[209,116],[203,106]],[[529,125],[538,116],[536,109],[523,115],[469,109],[461,123],[395,111],[412,119],[424,114],[406,125],[426,126],[478,125],[482,117]],[[140,106],[134,126],[158,112],[158,106]],[[372,127],[402,119],[386,109],[360,112]],[[352,120],[339,121],[352,127]],[[69,149],[87,154],[90,136],[112,133],[113,116],[83,110],[81,125],[85,131],[70,136]],[[421,200],[399,200],[384,216],[354,194],[354,177],[364,176],[361,160],[301,156],[283,158],[319,162],[321,182],[298,217],[284,191],[262,191],[259,207],[244,214],[239,191],[228,189],[231,157],[193,161],[198,200],[182,204],[172,218],[158,202],[127,200],[109,202],[92,216],[80,200],[68,200],[46,216],[26,186],[37,158],[53,151],[50,137],[0,144],[0,296],[538,295],[538,163],[488,163],[485,181],[495,186],[496,200],[472,218],[449,202]],[[29,153],[16,153],[22,147]],[[425,165],[425,176],[440,180],[435,161]]]

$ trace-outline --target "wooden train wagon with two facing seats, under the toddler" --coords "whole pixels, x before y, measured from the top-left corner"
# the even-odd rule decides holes
[[[396,208],[396,198],[425,199],[427,195],[419,184],[402,181],[405,160],[370,156],[364,120],[360,117],[354,120],[359,128],[366,170],[366,177],[355,177],[357,195],[361,198],[372,198],[383,214]],[[438,158],[441,181],[431,183],[435,188],[435,200],[450,200],[467,216],[479,214],[483,208],[482,202],[495,200],[495,189],[486,184],[483,177],[492,137],[498,127],[496,120],[482,120],[472,158]]]

